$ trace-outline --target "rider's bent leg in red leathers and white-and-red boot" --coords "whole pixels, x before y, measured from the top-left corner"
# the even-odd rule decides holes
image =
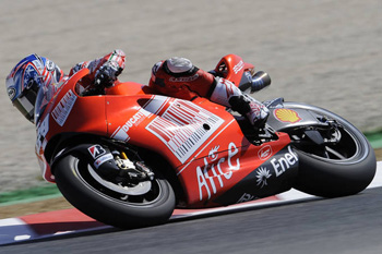
[[[270,113],[263,104],[244,96],[230,81],[196,68],[186,58],[172,57],[154,64],[150,86],[181,99],[208,98],[246,116],[255,129],[264,126]]]

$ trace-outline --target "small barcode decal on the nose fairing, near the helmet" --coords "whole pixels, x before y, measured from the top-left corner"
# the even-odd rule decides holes
[[[68,90],[68,93],[61,98],[61,100],[57,104],[56,108],[51,112],[51,117],[60,126],[63,126],[65,123],[70,112],[72,111],[75,100],[75,94],[72,90]]]

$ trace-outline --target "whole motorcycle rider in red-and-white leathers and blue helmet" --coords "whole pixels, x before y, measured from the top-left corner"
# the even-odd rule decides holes
[[[87,68],[89,75],[82,78],[82,85],[85,89],[93,86],[96,93],[103,93],[104,87],[110,87],[117,81],[117,76],[124,69],[124,52],[117,49],[103,58],[77,63],[70,70],[69,76]],[[34,123],[38,89],[43,86],[55,93],[56,84],[63,83],[69,76],[49,59],[29,55],[12,69],[5,85],[12,104]],[[231,82],[198,69],[186,58],[175,57],[157,62],[153,66],[150,86],[162,94],[182,99],[206,97],[246,116],[258,129],[264,125],[268,116],[264,105],[243,96]]]

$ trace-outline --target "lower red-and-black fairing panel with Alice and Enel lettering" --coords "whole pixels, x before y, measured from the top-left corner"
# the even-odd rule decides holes
[[[289,190],[298,168],[289,143],[283,133],[261,146],[231,136],[216,138],[203,147],[206,156],[178,168],[188,207],[236,204]]]

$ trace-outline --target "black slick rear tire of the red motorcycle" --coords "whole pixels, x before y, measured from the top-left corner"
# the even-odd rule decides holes
[[[346,154],[348,149],[348,156],[344,159],[329,159],[295,149],[299,157],[295,189],[311,195],[338,197],[359,193],[370,184],[377,170],[375,154],[357,128],[344,118],[315,106],[296,102],[286,102],[285,106],[303,108],[334,119],[343,126],[343,144],[338,146],[342,146],[342,153]]]

